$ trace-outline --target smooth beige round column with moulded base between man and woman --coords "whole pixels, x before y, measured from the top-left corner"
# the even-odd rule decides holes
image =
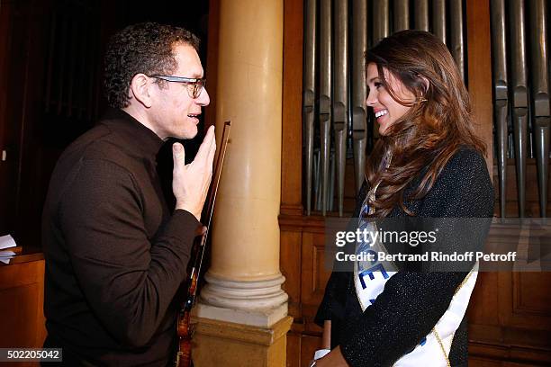
[[[220,0],[219,12],[216,129],[220,138],[223,121],[230,120],[231,133],[212,223],[212,263],[196,308],[194,361],[198,367],[213,363],[212,354],[223,345],[236,350],[256,340],[253,349],[266,352],[258,354],[266,363],[243,363],[252,355],[248,345],[236,366],[283,366],[291,324],[281,289],[277,223],[283,0]],[[258,345],[259,340],[270,342]],[[280,354],[283,364],[273,358]],[[238,357],[221,362],[230,366]]]

